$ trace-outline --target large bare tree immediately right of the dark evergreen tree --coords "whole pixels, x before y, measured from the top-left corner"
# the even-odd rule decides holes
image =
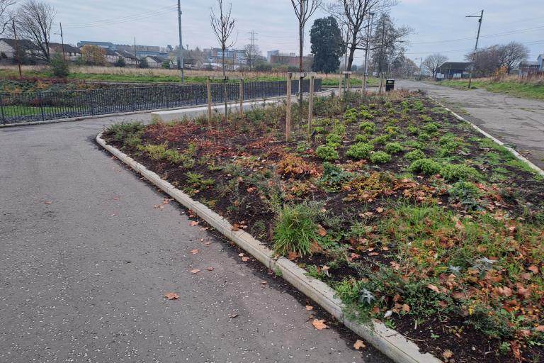
[[[346,69],[351,71],[356,50],[370,48],[368,27],[370,13],[387,11],[397,4],[397,0],[335,0],[325,6],[325,10],[336,18],[348,32],[348,64]]]

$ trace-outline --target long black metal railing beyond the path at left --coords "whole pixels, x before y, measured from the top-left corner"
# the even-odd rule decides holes
[[[291,86],[293,94],[298,93],[298,82],[293,80]],[[225,86],[227,101],[239,101],[239,83],[227,83]],[[319,90],[321,79],[315,79],[314,91]],[[211,91],[213,104],[224,102],[222,83],[212,83]],[[310,91],[308,79],[302,81],[302,91],[305,93]],[[286,81],[244,82],[244,100],[266,99],[285,94],[287,94]],[[207,103],[208,90],[205,84],[4,93],[0,94],[0,122],[47,121]]]

